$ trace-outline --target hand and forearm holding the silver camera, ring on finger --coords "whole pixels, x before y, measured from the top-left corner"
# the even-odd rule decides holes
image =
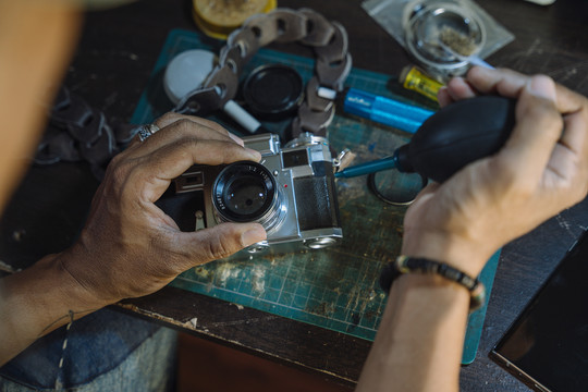
[[[212,122],[168,114],[156,123],[159,132],[134,140],[108,167],[77,242],[0,282],[0,366],[64,323],[266,238],[257,223],[183,233],[154,204],[195,163],[260,159]]]

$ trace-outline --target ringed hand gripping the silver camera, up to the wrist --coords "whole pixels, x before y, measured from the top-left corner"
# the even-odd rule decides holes
[[[102,305],[152,293],[186,269],[266,238],[257,223],[223,223],[181,232],[154,203],[195,163],[259,161],[258,151],[216,123],[180,114],[110,163],[78,242],[59,256],[63,268]]]

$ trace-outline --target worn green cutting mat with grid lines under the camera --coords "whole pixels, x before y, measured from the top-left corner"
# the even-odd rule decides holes
[[[194,32],[173,30],[152,72],[132,122],[151,122],[172,109],[162,87],[168,62],[188,49],[218,52],[221,41],[211,41]],[[305,81],[313,76],[314,60],[261,49],[247,64],[244,75],[267,63],[295,68]],[[405,100],[389,90],[390,77],[354,69],[346,85],[373,94]],[[221,115],[215,120],[242,134]],[[265,123],[280,132],[284,122]],[[405,144],[409,135],[390,127],[350,117],[341,111],[329,126],[329,139],[335,150],[351,148],[355,162],[388,156]],[[402,184],[400,185],[402,186]],[[249,260],[218,260],[184,272],[171,284],[176,287],[309,322],[338,332],[373,340],[385,304],[378,285],[381,268],[394,259],[402,241],[404,207],[381,203],[366,186],[365,177],[338,180],[338,196],[344,241],[333,248],[302,250],[281,257]],[[481,280],[490,291],[498,265],[492,257]],[[463,363],[474,360],[486,315],[486,307],[470,316]]]

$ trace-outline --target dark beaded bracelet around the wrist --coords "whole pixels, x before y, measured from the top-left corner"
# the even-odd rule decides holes
[[[392,282],[402,273],[438,274],[452,282],[463,285],[469,291],[469,311],[479,309],[486,301],[486,289],[478,279],[453,268],[444,262],[426,258],[399,256],[395,261],[389,262],[380,273],[380,286],[388,294]]]

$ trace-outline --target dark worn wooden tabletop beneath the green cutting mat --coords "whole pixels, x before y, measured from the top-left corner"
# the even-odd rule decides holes
[[[479,4],[516,36],[487,59],[490,63],[546,73],[588,95],[588,3],[558,0],[541,8],[522,0],[483,0]],[[369,19],[358,0],[284,0],[280,5],[311,7],[345,25],[355,66],[397,75],[409,63],[399,44]],[[110,119],[128,120],[168,33],[177,27],[195,28],[189,1],[142,0],[89,14],[66,85]],[[280,50],[310,56],[296,45]],[[66,247],[85,220],[96,186],[83,163],[32,169],[0,224],[0,259],[24,268]],[[585,200],[503,249],[478,356],[462,371],[463,391],[527,390],[487,354],[587,225],[587,218]],[[172,287],[126,301],[122,308],[339,382],[357,379],[370,345]]]

